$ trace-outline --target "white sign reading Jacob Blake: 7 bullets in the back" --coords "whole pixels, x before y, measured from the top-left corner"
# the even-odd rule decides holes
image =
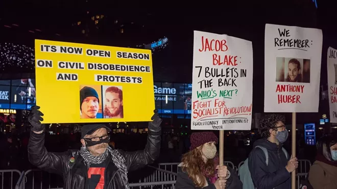
[[[250,130],[252,42],[194,32],[192,130]]]

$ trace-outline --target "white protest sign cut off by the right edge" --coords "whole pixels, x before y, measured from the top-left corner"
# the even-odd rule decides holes
[[[330,122],[337,123],[337,50],[331,47],[328,49],[327,63]]]

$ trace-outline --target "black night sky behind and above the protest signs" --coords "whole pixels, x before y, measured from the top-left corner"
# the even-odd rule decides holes
[[[34,39],[47,39],[139,48],[165,36],[169,41],[167,47],[153,54],[154,81],[191,83],[193,31],[228,34],[253,43],[253,111],[263,112],[266,23],[323,30],[321,90],[327,90],[326,53],[329,46],[337,49],[337,16],[334,13],[337,3],[315,1],[318,8],[312,0],[185,4],[154,1],[2,1],[0,43],[12,42],[34,48]],[[104,15],[97,25],[91,20],[95,15]],[[85,33],[82,33],[83,30]],[[20,73],[32,73],[32,70],[34,68],[19,68]],[[15,77],[11,73],[17,72],[18,69],[8,67],[1,77]],[[323,113],[328,114],[327,100],[320,101],[319,113],[298,113],[298,121],[318,121]],[[291,114],[286,115],[290,121]]]

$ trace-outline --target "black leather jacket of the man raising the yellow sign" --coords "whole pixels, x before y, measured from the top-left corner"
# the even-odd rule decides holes
[[[62,153],[47,152],[44,147],[44,132],[36,134],[31,132],[28,144],[28,156],[30,162],[50,173],[57,173],[63,176],[64,189],[84,189],[88,188],[88,168],[84,164],[82,156],[76,155],[78,150],[68,150]],[[160,132],[151,132],[149,129],[148,142],[145,150],[135,152],[118,151],[126,159],[128,171],[133,171],[154,162],[160,152]],[[75,162],[71,163],[70,158],[74,157]],[[105,187],[125,188],[122,175],[108,158],[108,166],[105,171]]]

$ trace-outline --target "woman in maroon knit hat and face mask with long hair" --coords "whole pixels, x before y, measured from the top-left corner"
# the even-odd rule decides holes
[[[190,151],[178,165],[177,189],[242,189],[233,169],[219,166],[216,155],[218,137],[213,132],[196,132],[190,136]]]

